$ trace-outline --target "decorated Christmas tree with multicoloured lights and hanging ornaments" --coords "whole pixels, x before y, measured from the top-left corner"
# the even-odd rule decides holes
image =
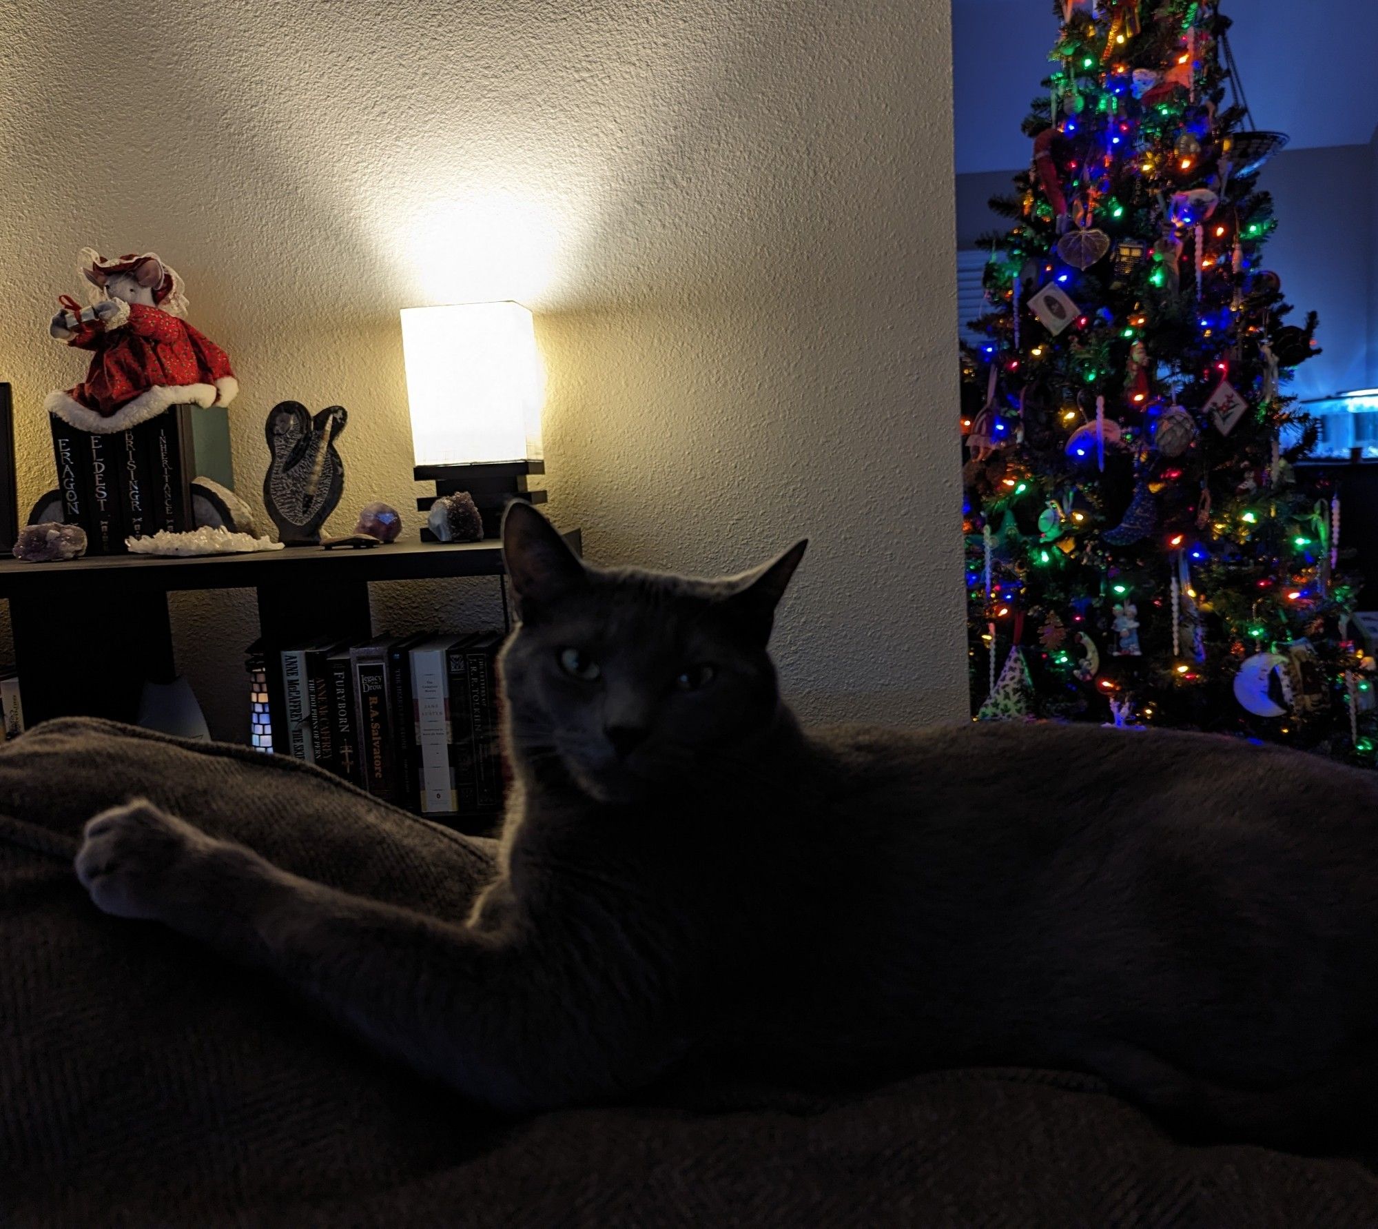
[[[1288,322],[1261,265],[1258,172],[1286,138],[1253,130],[1218,4],[1054,12],[962,355],[971,711],[1371,763],[1338,500],[1294,470],[1316,317]]]

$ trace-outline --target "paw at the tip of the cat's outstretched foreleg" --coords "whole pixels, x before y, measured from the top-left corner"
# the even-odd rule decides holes
[[[176,878],[214,843],[141,798],[87,823],[77,851],[77,879],[102,912],[158,918]]]

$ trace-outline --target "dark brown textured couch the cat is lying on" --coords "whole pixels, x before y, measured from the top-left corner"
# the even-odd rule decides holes
[[[460,916],[492,846],[294,761],[59,721],[0,751],[0,1225],[1378,1225],[1359,1160],[1173,1141],[1090,1079],[820,1098],[685,1073],[503,1122],[259,974],[101,915],[81,824],[134,795],[338,887]]]

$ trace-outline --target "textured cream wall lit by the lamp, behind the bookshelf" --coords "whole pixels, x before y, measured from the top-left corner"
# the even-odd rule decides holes
[[[965,710],[948,7],[937,0],[0,0],[0,378],[51,485],[76,249],[158,251],[230,353],[238,488],[278,400],[350,411],[332,529],[411,481],[397,309],[514,298],[551,511],[595,561],[734,570],[808,533],[779,653],[812,715]],[[493,588],[378,587],[395,630]],[[252,595],[174,602],[238,736]],[[101,617],[107,617],[102,614]]]

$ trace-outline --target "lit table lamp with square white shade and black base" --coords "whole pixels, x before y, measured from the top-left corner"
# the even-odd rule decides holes
[[[402,309],[402,358],[419,482],[467,492],[496,537],[514,499],[546,502],[540,448],[544,378],[531,311],[520,303]],[[422,537],[434,541],[423,529]]]

